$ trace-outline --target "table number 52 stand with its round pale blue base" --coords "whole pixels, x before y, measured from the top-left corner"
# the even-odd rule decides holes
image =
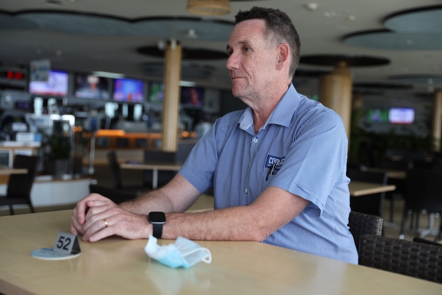
[[[53,248],[35,249],[31,255],[43,260],[63,260],[77,257],[81,252],[77,235],[60,231]]]

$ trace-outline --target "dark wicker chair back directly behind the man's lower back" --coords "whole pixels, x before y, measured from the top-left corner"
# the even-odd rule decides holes
[[[382,225],[384,220],[376,215],[351,211],[348,217],[348,226],[353,235],[354,244],[359,252],[360,237],[365,234],[382,234]]]

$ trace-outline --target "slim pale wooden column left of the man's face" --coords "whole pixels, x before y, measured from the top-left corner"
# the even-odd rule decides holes
[[[168,43],[165,51],[162,150],[168,152],[177,150],[182,51],[175,40]]]

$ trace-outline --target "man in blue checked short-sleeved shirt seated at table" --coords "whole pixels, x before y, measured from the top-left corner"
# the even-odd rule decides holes
[[[72,232],[143,239],[154,226],[164,239],[263,241],[357,263],[342,120],[291,84],[300,45],[284,12],[254,7],[235,21],[227,68],[248,108],[217,119],[166,186],[119,206],[98,194],[78,202]],[[215,210],[181,213],[212,186]],[[166,212],[164,226],[152,211]]]

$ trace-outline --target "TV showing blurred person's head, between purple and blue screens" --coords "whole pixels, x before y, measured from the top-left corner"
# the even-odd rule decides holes
[[[82,99],[110,99],[110,78],[93,74],[76,74],[74,80],[74,96]]]

